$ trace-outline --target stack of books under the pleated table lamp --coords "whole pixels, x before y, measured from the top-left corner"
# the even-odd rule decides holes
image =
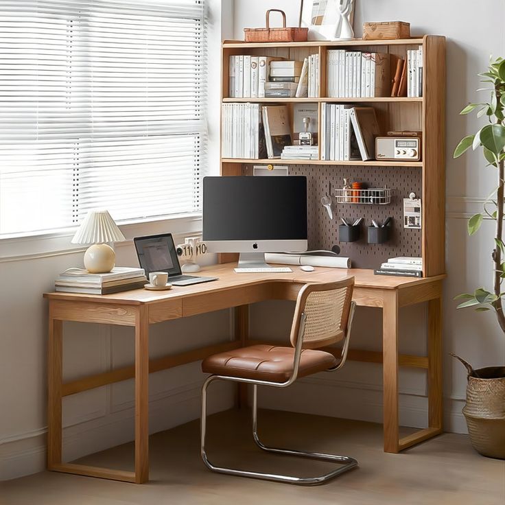
[[[69,268],[58,276],[54,289],[64,293],[111,294],[137,290],[147,283],[143,268],[115,267],[106,274]]]

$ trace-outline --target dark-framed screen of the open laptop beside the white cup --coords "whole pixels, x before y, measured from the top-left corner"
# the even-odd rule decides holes
[[[172,233],[135,237],[133,239],[141,268],[145,274],[168,272],[169,277],[180,275],[180,264]]]

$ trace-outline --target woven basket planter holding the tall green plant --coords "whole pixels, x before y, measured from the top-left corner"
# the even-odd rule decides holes
[[[471,445],[483,456],[505,459],[505,366],[474,370],[453,354],[468,371],[467,420]]]

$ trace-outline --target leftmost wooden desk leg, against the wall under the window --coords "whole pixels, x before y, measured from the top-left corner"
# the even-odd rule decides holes
[[[47,345],[47,468],[55,469],[62,459],[62,321],[49,310]]]

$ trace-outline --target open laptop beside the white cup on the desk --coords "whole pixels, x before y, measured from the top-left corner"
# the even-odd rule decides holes
[[[172,233],[135,237],[133,242],[140,266],[148,277],[150,272],[167,272],[168,282],[176,286],[218,280],[218,277],[197,277],[182,274]]]

